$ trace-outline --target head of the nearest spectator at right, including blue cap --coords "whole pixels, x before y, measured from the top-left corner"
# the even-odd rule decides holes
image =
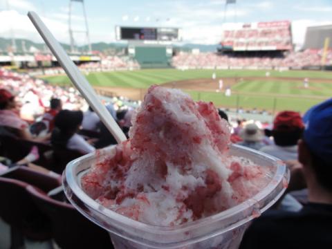
[[[304,116],[303,139],[299,141],[299,162],[309,183],[317,181],[332,192],[332,99],[318,104]]]

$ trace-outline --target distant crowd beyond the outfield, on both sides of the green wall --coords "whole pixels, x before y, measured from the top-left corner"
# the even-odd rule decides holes
[[[185,53],[181,52],[172,57],[175,68],[302,68],[306,66],[322,66],[323,50],[306,49],[303,51],[287,52],[284,55],[234,55],[217,53]],[[332,50],[327,50],[326,65],[332,64]],[[80,70],[91,72],[136,70],[140,64],[129,57],[107,56],[100,62],[86,62],[78,66]],[[30,75],[62,75],[61,67],[33,69]]]

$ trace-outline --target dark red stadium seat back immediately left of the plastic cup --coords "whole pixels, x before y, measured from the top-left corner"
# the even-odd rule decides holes
[[[86,219],[71,204],[50,199],[33,187],[27,191],[50,218],[53,239],[60,248],[113,248],[107,231]]]

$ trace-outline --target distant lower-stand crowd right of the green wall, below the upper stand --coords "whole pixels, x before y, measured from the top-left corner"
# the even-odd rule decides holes
[[[322,50],[312,49],[291,52],[284,57],[235,57],[232,55],[218,55],[216,53],[179,53],[173,57],[172,65],[176,68],[301,68],[303,66],[321,66],[322,53]],[[327,52],[326,64],[332,64],[332,50]]]

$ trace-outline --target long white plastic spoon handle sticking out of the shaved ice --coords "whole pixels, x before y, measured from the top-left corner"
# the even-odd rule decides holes
[[[93,108],[95,113],[98,114],[100,120],[102,120],[107,129],[111,131],[114,138],[116,138],[116,141],[120,144],[120,142],[127,140],[126,136],[124,136],[124,133],[113,119],[109,111],[107,111],[106,107],[104,107],[104,105],[98,99],[97,94],[89,82],[68,57],[67,53],[64,51],[64,48],[62,48],[52,33],[50,33],[50,30],[48,30],[48,28],[45,26],[42,19],[40,19],[39,16],[33,11],[28,12],[28,17],[33,22],[33,25],[37,29],[39,35],[41,35],[44,39],[44,42],[47,44],[48,48],[50,48],[53,55],[55,55],[57,58],[59,64],[62,66],[62,68],[64,68],[64,71],[66,71],[66,74],[71,79],[71,82],[73,82],[78,91],[80,91],[85,100]]]

